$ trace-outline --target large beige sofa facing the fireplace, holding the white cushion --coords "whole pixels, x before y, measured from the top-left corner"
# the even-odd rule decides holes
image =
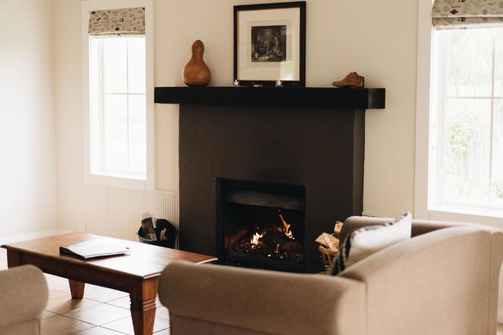
[[[350,217],[342,237],[385,219]],[[339,276],[173,263],[159,282],[171,334],[496,334],[503,234],[413,221],[413,238]]]

